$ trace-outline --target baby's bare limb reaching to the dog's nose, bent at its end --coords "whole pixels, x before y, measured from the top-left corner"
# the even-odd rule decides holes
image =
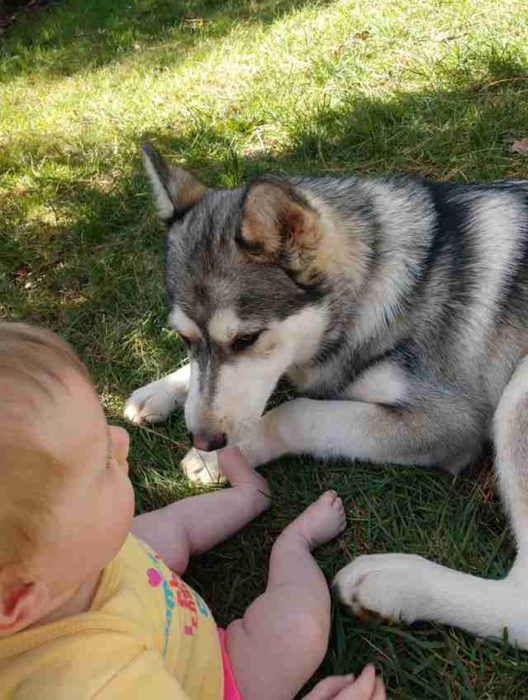
[[[269,506],[266,480],[238,450],[222,450],[219,460],[231,488],[184,498],[134,518],[132,532],[179,574],[189,557],[228,539]]]

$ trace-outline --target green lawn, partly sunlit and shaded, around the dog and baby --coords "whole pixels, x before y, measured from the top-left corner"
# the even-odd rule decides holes
[[[116,422],[132,389],[183,362],[165,324],[141,141],[220,186],[262,171],[467,180],[528,169],[510,150],[528,135],[523,0],[67,0],[1,42],[0,315],[66,336]],[[130,430],[138,509],[188,494],[181,417]],[[484,469],[453,480],[283,459],[264,471],[271,511],[190,571],[220,623],[262,590],[274,537],[329,487],[349,528],[318,555],[328,576],[363,552],[491,577],[512,562]],[[506,643],[333,615],[320,675],[373,660],[392,698],[528,698],[528,657]]]

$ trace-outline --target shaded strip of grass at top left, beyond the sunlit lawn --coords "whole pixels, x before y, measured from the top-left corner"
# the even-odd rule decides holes
[[[225,37],[240,24],[271,24],[303,4],[294,0],[69,0],[45,14],[22,17],[16,31],[2,37],[0,81],[28,71],[73,75],[122,61],[145,44],[155,48],[169,40],[174,65],[203,37]]]

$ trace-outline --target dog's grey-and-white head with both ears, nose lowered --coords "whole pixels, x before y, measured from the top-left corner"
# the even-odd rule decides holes
[[[201,449],[245,433],[325,331],[320,217],[287,181],[208,189],[143,147],[167,225],[170,325],[186,343],[187,427]]]

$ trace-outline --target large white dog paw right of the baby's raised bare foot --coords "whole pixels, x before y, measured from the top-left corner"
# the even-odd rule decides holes
[[[333,587],[359,616],[372,613],[407,623],[426,619],[438,564],[414,554],[357,557],[338,572]]]

